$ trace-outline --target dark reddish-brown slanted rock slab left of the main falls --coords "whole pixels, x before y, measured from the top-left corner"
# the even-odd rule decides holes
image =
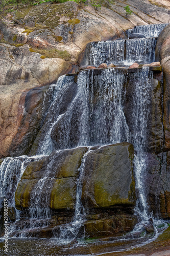
[[[49,86],[37,87],[22,93],[20,105],[24,105],[25,111],[18,115],[20,125],[10,146],[11,157],[29,153],[50,106],[52,90],[48,89]]]

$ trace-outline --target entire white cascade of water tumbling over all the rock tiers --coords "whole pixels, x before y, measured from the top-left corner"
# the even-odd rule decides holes
[[[161,30],[163,26],[151,26],[144,29],[149,31],[147,35],[155,36],[152,31],[158,27]],[[139,33],[140,29],[144,31],[142,30],[143,26],[139,27],[142,28],[137,31],[136,27],[135,32]],[[131,32],[129,30],[129,33]],[[89,61],[91,65],[95,66],[101,62],[123,63],[124,65],[134,61],[152,62],[154,61],[155,45],[155,38],[92,42]],[[81,159],[78,170],[74,218],[70,223],[60,226],[61,238],[77,238],[79,229],[85,221],[81,203],[82,178],[86,158],[91,153],[90,147],[94,145],[124,141],[133,144],[135,150],[134,172],[138,191],[135,210],[141,222],[147,222],[149,219],[142,179],[147,168],[145,153],[151,100],[149,79],[152,75],[148,67],[143,67],[135,73],[128,72],[126,68],[107,68],[81,71],[78,77],[75,75],[61,76],[57,84],[51,86],[54,95],[44,125],[38,135],[37,140],[40,143],[36,152],[37,156],[6,158],[0,167],[1,197],[8,197],[11,206],[14,206],[16,187],[30,161],[41,160],[44,155],[50,155],[53,151],[60,158],[60,154],[68,148],[89,147]],[[125,111],[128,79],[135,81],[131,95],[132,110],[129,122]],[[40,225],[44,227],[48,224],[48,219],[52,217],[49,195],[55,177],[53,172],[54,155],[49,157],[51,157],[51,161],[46,165],[44,176],[39,179],[31,192],[29,228],[32,229],[40,227]],[[36,219],[37,221],[35,221]],[[42,224],[40,224],[40,220],[43,220]],[[14,231],[12,225],[11,230]],[[20,231],[22,233],[22,230]]]

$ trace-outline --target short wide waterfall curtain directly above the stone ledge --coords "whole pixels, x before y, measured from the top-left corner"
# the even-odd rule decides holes
[[[104,42],[91,42],[89,65],[101,63],[130,66],[135,61],[151,63],[155,61],[155,38],[134,38]]]

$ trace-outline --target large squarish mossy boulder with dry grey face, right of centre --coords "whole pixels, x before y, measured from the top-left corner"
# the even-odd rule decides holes
[[[89,153],[84,169],[85,208],[135,205],[133,146],[118,143]]]

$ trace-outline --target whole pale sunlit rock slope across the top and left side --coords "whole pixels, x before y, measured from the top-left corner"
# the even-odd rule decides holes
[[[88,1],[87,5],[82,6],[75,2],[42,3],[18,9],[13,12],[13,16],[7,15],[18,25],[2,23],[0,26],[0,157],[12,154],[11,145],[14,148],[18,130],[19,133],[27,133],[26,130],[21,132],[19,121],[22,119],[20,109],[24,104],[21,96],[23,92],[55,82],[68,69],[78,71],[75,64],[81,62],[88,42],[124,39],[125,31],[137,24],[168,23],[167,9],[153,6],[148,1],[128,0],[126,4],[117,0],[114,2],[108,8],[102,6],[101,10],[94,9]],[[130,5],[135,13],[128,18],[124,10],[126,5]],[[59,58],[43,58],[43,54],[37,50],[45,50],[46,53],[58,50],[61,55]],[[65,60],[65,54],[69,54],[71,65]]]

